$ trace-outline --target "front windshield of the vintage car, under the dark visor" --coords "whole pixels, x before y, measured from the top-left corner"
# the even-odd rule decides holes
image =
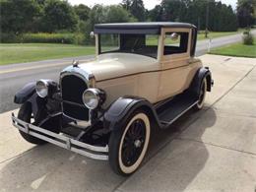
[[[158,57],[159,35],[100,33],[99,54],[124,52]]]

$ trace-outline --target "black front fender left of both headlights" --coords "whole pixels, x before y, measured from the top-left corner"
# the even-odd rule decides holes
[[[35,93],[35,84],[36,82],[29,83],[22,90],[16,93],[14,96],[14,102],[17,104],[23,104],[26,102]]]

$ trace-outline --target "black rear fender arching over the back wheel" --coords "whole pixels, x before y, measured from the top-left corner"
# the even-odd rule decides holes
[[[197,96],[200,93],[201,84],[204,78],[206,78],[207,80],[207,92],[212,91],[212,86],[214,84],[214,81],[212,79],[212,73],[208,67],[201,67],[194,76],[189,88],[189,90]]]

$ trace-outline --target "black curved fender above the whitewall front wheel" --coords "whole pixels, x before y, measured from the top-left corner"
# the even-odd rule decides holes
[[[150,101],[142,97],[126,96],[115,100],[105,111],[103,116],[104,128],[114,131],[125,126],[130,115],[138,109],[143,110],[149,115],[151,121],[160,125],[157,112]]]

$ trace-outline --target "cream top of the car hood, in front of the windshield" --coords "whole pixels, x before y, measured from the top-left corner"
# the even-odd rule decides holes
[[[81,63],[78,67],[95,76],[96,81],[159,70],[158,60],[131,53],[101,54],[92,61]]]

